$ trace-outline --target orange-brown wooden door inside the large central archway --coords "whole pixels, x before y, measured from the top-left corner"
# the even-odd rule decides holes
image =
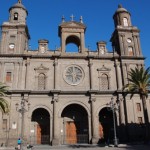
[[[77,129],[74,122],[66,122],[66,142],[67,144],[77,143]]]

